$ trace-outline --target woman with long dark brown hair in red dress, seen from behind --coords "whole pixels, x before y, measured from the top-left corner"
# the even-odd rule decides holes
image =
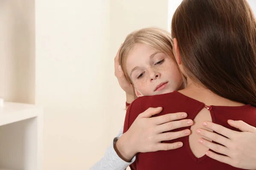
[[[202,124],[208,125],[205,121],[230,127],[228,119],[242,119],[256,126],[256,25],[250,6],[245,0],[183,0],[172,20],[172,35],[174,54],[188,85],[179,92],[135,100],[128,109],[124,133],[139,113],[152,106],[162,106],[161,115],[186,111],[196,123],[189,138],[181,138],[186,148],[140,153],[132,167],[234,169],[207,159],[204,154],[211,154],[209,148],[198,144],[207,142],[196,133],[202,134]],[[220,143],[225,138],[215,140]],[[215,151],[219,150],[229,154],[227,147],[219,145]]]

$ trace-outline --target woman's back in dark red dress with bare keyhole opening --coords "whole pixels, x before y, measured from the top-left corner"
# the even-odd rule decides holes
[[[181,141],[184,143],[183,147],[170,151],[138,153],[136,162],[132,164],[133,169],[237,169],[231,167],[230,165],[223,164],[205,156],[205,152],[208,150],[208,148],[204,148],[198,144],[198,139],[200,138],[200,136],[196,134],[195,130],[198,127],[203,128],[202,124],[204,121],[207,120],[231,128],[233,130],[237,129],[234,129],[227,124],[228,119],[243,120],[250,125],[256,126],[256,122],[254,121],[256,119],[256,108],[250,105],[242,105],[237,102],[222,99],[219,96],[207,97],[205,96],[206,93],[209,93],[210,95],[210,92],[207,92],[207,90],[202,90],[201,93],[186,90],[181,91],[181,93],[174,91],[173,93],[169,94],[140,97],[130,105],[125,117],[124,132],[128,130],[138,114],[142,113],[149,107],[163,107],[163,111],[157,116],[167,113],[186,112],[188,114],[188,119],[192,119],[195,122],[194,125],[191,127],[192,134],[190,136],[166,141],[168,143]],[[194,99],[192,99],[191,97],[193,97]],[[206,104],[209,103],[207,105],[208,109],[204,103],[196,100],[202,100],[203,98],[204,101],[206,101]],[[210,102],[213,103],[211,104]],[[220,102],[221,106],[215,106]]]

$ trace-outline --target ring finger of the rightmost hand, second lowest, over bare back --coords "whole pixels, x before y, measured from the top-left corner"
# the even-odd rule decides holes
[[[203,138],[198,139],[198,142],[204,145],[205,147],[208,147],[209,149],[214,150],[215,152],[218,152],[224,155],[229,155],[229,149],[220,144],[209,142]]]

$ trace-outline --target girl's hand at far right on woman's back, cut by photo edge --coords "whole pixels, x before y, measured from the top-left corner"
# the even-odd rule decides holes
[[[250,126],[243,121],[229,120],[228,124],[242,132],[230,130],[212,122],[205,122],[204,126],[223,136],[203,129],[197,130],[197,133],[201,134],[201,136],[207,137],[219,144],[214,144],[205,139],[201,139],[199,143],[226,156],[211,151],[207,151],[206,155],[217,161],[230,164],[233,167],[256,170],[256,127]]]

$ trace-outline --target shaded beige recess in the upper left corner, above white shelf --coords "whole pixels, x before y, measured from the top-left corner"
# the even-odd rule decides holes
[[[0,1],[0,98],[34,103],[34,0]]]

